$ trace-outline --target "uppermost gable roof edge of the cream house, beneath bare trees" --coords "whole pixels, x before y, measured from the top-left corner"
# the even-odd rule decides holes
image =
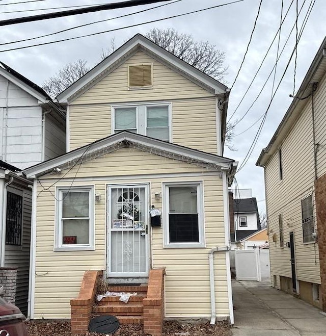
[[[182,61],[178,57],[169,53],[169,51],[155,44],[141,34],[134,35],[130,40],[124,43],[120,48],[115,50],[110,56],[97,64],[88,71],[84,76],[80,77],[75,83],[57,96],[59,102],[65,103],[72,100],[80,92],[84,92],[90,86],[94,85],[102,76],[107,75],[116,69],[126,58],[133,55],[138,50],[146,51],[150,56],[154,57],[161,63],[177,70],[191,81],[197,83],[204,88],[211,90],[214,94],[225,94],[228,88],[216,81],[204,72],[196,69],[194,66]]]

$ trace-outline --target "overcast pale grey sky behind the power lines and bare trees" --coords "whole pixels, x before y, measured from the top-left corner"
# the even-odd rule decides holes
[[[104,1],[100,2],[91,0],[42,0],[26,4],[6,5],[9,3],[16,3],[21,1],[26,0],[1,1],[0,20],[49,12],[30,11],[8,13],[18,10],[105,3]],[[172,3],[159,9],[153,9],[142,14],[96,23],[89,25],[88,27],[78,28],[69,32],[45,37],[42,39],[0,45],[0,60],[18,72],[22,73],[36,84],[42,85],[43,81],[46,80],[49,76],[55,74],[58,69],[63,67],[66,63],[73,62],[78,58],[86,59],[89,62],[89,65],[93,66],[99,60],[101,50],[106,49],[106,47],[110,45],[112,38],[115,38],[116,44],[119,46],[134,34],[145,34],[151,28],[173,27],[180,33],[192,34],[198,41],[208,40],[210,43],[215,44],[217,48],[225,51],[225,63],[229,67],[225,81],[230,87],[239,69],[244,52],[246,51],[260,0],[244,0],[236,4],[211,9],[201,13],[168,19],[156,23],[139,25],[138,27],[92,37],[80,38],[72,41],[13,51],[1,50],[111,30],[124,27],[126,25],[138,24],[149,20],[181,14],[192,10],[228,3],[231,1],[232,0],[182,0],[176,2],[175,4]],[[119,1],[111,0],[111,2]],[[291,1],[284,0],[283,3],[284,16],[285,12],[290,6]],[[262,61],[267,51],[267,48],[278,31],[280,24],[281,4],[282,0],[263,0],[262,2],[256,30],[254,32],[246,60],[231,91],[228,109],[229,117],[233,114],[235,108],[238,105],[238,102],[243,97],[244,92],[247,90],[255,72],[260,65],[260,62]],[[298,0],[299,8],[304,5],[298,20],[299,29],[302,26],[303,18],[305,17],[310,4],[311,0]],[[75,25],[94,22],[101,19],[108,19],[154,6],[157,5],[147,5],[122,10],[101,11],[97,13],[88,13],[71,17],[9,25],[1,28],[2,34],[0,38],[0,44],[49,34],[59,30],[74,27]],[[284,24],[282,25],[280,44],[281,49],[283,48],[283,45],[288,38],[293,24],[295,23],[295,17],[295,1],[293,1],[293,5],[290,8]],[[296,89],[300,86],[318,47],[325,37],[325,17],[326,4],[324,0],[316,0],[300,43],[297,47],[297,67],[295,76]],[[278,39],[275,40],[252,88],[248,92],[247,96],[243,99],[242,104],[239,106],[231,121],[240,119],[241,116],[248,110],[252,102],[256,99],[259,91],[267,79],[268,74],[275,65],[277,42]],[[280,78],[289,60],[290,54],[292,53],[294,45],[295,29],[293,30],[292,35],[286,44],[284,52],[280,57],[280,61],[277,66],[275,87],[277,87],[279,84]],[[241,171],[236,174],[236,179],[240,188],[251,188],[253,190],[253,196],[257,197],[260,211],[264,211],[265,208],[263,169],[256,167],[255,163],[260,151],[268,144],[270,138],[273,136],[278,124],[280,123],[282,117],[290,105],[291,98],[289,98],[289,94],[293,92],[293,74],[294,59],[292,60],[292,63],[286,75],[284,76],[279,90],[275,95],[273,103],[267,114],[262,133],[248,163],[246,166],[244,166],[243,169],[241,169]],[[257,99],[253,108],[235,127],[235,135],[246,130],[266,111],[270,101],[272,83],[273,76],[270,77],[264,91],[262,92],[260,98]],[[225,156],[235,159],[241,164],[254,140],[259,124],[260,121],[250,128],[249,131],[244,132],[242,135],[235,136],[233,138],[233,145],[237,150],[230,151],[226,149]]]

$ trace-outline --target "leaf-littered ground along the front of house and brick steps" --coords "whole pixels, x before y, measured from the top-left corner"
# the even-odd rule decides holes
[[[29,336],[70,336],[70,322],[67,321],[38,321],[27,322]],[[231,336],[232,332],[226,323],[210,326],[209,322],[184,323],[165,321],[163,336]],[[96,332],[86,332],[79,336],[103,336]],[[114,336],[147,336],[143,326],[139,324],[120,325]]]

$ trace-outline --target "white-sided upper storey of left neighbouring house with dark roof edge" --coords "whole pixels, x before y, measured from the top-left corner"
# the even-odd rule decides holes
[[[0,160],[24,169],[65,152],[65,109],[0,62]]]

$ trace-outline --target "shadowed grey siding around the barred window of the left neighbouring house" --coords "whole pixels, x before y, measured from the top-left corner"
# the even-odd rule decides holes
[[[19,187],[10,186],[9,191],[21,191]],[[32,191],[23,192],[22,245],[6,246],[5,267],[17,267],[16,302],[21,312],[27,315],[29,296],[29,268],[31,241]]]

